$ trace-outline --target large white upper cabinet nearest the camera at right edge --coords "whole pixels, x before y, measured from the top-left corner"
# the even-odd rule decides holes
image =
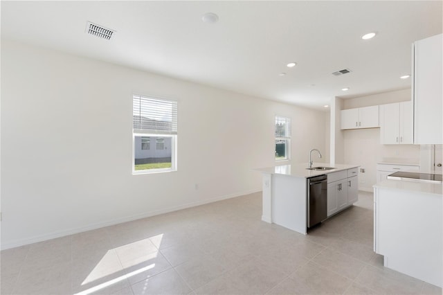
[[[413,44],[414,143],[442,144],[443,35]]]

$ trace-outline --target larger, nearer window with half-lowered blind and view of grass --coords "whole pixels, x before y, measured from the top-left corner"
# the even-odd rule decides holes
[[[177,101],[134,95],[132,111],[133,173],[177,170]]]

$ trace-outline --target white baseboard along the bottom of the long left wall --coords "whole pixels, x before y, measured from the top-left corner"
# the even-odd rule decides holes
[[[146,217],[152,217],[152,216],[156,216],[156,215],[161,215],[164,213],[170,213],[173,211],[179,211],[182,209],[186,209],[186,208],[192,208],[195,206],[200,206],[200,205],[204,205],[204,204],[210,204],[210,203],[214,203],[214,202],[219,202],[219,201],[223,201],[224,199],[231,199],[233,197],[241,197],[243,195],[249,195],[252,193],[258,193],[261,190],[249,190],[246,191],[244,193],[235,193],[235,194],[230,194],[230,195],[223,195],[220,197],[213,197],[210,199],[204,199],[201,200],[199,202],[192,202],[192,203],[188,203],[188,204],[183,204],[183,205],[179,205],[179,206],[175,206],[175,207],[171,207],[171,208],[165,208],[162,210],[156,210],[156,211],[150,211],[147,213],[143,213],[143,214],[137,214],[137,215],[132,215],[132,216],[127,216],[127,217],[123,217],[123,218],[117,218],[115,220],[107,220],[105,222],[98,222],[96,224],[91,224],[89,226],[83,226],[83,227],[78,227],[78,228],[74,228],[74,229],[66,229],[64,231],[55,231],[53,233],[46,233],[44,235],[35,235],[34,237],[31,238],[26,238],[26,239],[20,239],[20,240],[13,240],[10,242],[6,242],[3,243],[1,242],[1,250],[6,250],[6,249],[10,249],[10,248],[15,248],[15,247],[20,247],[20,246],[24,246],[26,244],[33,244],[36,242],[43,242],[46,240],[51,240],[51,239],[55,239],[55,238],[61,238],[64,237],[66,235],[73,235],[75,233],[82,233],[83,231],[91,231],[93,229],[100,229],[102,227],[105,226],[111,226],[114,224],[120,224],[123,222],[130,222],[133,220],[139,220],[142,218],[146,218]]]

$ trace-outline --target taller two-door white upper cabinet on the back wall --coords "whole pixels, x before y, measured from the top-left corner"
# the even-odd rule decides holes
[[[380,143],[413,144],[413,104],[411,101],[380,105]]]

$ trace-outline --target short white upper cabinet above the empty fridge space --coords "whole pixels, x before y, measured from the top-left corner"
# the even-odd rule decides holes
[[[379,125],[379,106],[343,109],[341,111],[341,129],[376,128]]]

